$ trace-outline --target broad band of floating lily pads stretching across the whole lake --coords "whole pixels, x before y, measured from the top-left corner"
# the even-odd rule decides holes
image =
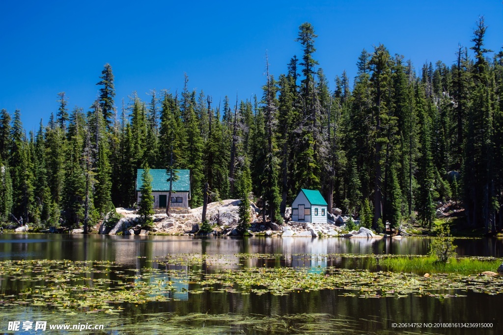
[[[342,256],[344,255],[344,256]],[[345,254],[314,258],[352,257]],[[243,257],[244,254],[242,255]],[[249,255],[250,258],[261,254]],[[284,257],[282,255],[269,255]],[[300,256],[300,255],[299,255]],[[311,255],[304,255],[311,257]],[[355,256],[355,255],[353,255]],[[360,258],[355,256],[355,259]],[[429,257],[366,255],[382,268],[414,271],[435,265]],[[306,258],[307,259],[307,258]],[[309,258],[312,260],[313,258]],[[405,272],[340,269],[333,266],[243,266],[224,255],[169,255],[148,262],[150,267],[127,269],[109,261],[29,260],[0,262],[0,306],[32,305],[59,310],[117,312],[124,304],[175,299],[177,292],[205,291],[241,294],[287,295],[320,290],[341,290],[356,297],[405,297],[409,294],[438,298],[455,297],[463,291],[498,294],[503,277],[463,275],[500,262],[493,258],[463,258],[439,270],[458,273],[433,274],[429,278]],[[259,262],[260,263],[260,262]],[[214,264],[208,271],[207,266]],[[232,268],[219,268],[220,265]],[[411,269],[409,267],[412,266]],[[414,267],[415,266],[415,267]],[[452,268],[450,268],[452,267]],[[204,269],[204,270],[203,270]],[[430,271],[432,272],[432,271]],[[5,286],[5,281],[16,283]]]

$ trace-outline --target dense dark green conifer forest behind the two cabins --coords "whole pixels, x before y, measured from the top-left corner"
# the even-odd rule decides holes
[[[137,168],[173,167],[191,171],[191,207],[202,205],[206,182],[212,200],[242,198],[251,185],[269,219],[281,221],[299,189],[311,188],[328,211],[338,206],[368,226],[414,219],[430,228],[437,201],[453,199],[468,226],[495,232],[503,225],[503,52],[484,47],[485,31],[481,18],[452,65],[415,67],[384,45],[364,49],[356,78],[343,72],[330,90],[315,30],[304,23],[302,54],[278,77],[266,64],[263,93],[251,100],[215,101],[191,91],[187,75],[180,93],[117,99],[106,64],[91,106],[70,109],[55,92],[54,113],[35,133],[23,129],[20,110],[2,109],[0,217],[35,229],[94,225],[135,205]]]

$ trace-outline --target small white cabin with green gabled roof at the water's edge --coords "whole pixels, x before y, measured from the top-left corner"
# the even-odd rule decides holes
[[[292,221],[326,224],[327,203],[318,190],[301,188],[292,202]]]

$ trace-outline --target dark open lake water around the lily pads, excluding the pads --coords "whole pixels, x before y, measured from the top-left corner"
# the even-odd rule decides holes
[[[326,254],[402,254],[425,255],[429,239],[401,240],[309,239],[309,238],[193,238],[171,236],[82,236],[82,235],[0,235],[0,261],[8,260],[72,260],[113,261],[121,272],[141,274],[148,268],[163,269],[156,259],[186,254],[225,255],[225,259],[199,265],[207,273],[238,271],[242,267],[309,268],[323,271],[325,267],[379,270],[368,258],[313,257]],[[501,239],[455,240],[460,256],[503,257]],[[242,254],[270,254],[281,257],[243,258]],[[154,261],[154,262],[152,262]],[[165,266],[166,269],[168,266]],[[190,269],[187,266],[186,269]],[[101,278],[95,274],[96,278]],[[33,278],[35,273],[31,275]],[[118,277],[110,278],[121,280]],[[0,268],[0,300],[44,285],[30,278],[9,279]],[[360,298],[345,296],[347,290],[289,292],[285,295],[243,294],[242,292],[190,292],[198,283],[176,281],[177,291],[162,302],[121,304],[122,311],[113,316],[104,312],[69,312],[50,306],[2,306],[0,301],[0,333],[34,333],[8,331],[9,321],[49,319],[61,323],[103,323],[103,331],[57,331],[35,333],[439,333],[472,334],[503,333],[500,306],[503,294],[489,295],[472,291],[462,297],[430,296]],[[113,285],[112,285],[113,286]],[[111,286],[111,287],[112,287]],[[201,316],[201,315],[206,316]],[[216,315],[216,317],[211,317]],[[187,316],[184,318],[184,316]],[[203,321],[201,321],[204,319]],[[71,320],[71,322],[70,322]],[[489,328],[398,328],[400,322],[490,322]],[[50,323],[50,322],[48,322]],[[110,324],[109,324],[110,323]]]

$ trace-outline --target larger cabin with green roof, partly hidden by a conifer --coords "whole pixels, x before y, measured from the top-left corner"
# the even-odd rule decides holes
[[[139,192],[142,182],[141,175],[143,169],[138,169],[136,173],[136,201],[139,203],[141,193]],[[189,208],[190,199],[190,171],[173,170],[175,178],[173,179],[171,193],[171,208]],[[170,193],[170,173],[164,169],[151,169],[152,176],[152,195],[154,196],[154,208],[166,208],[167,195]]]

